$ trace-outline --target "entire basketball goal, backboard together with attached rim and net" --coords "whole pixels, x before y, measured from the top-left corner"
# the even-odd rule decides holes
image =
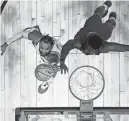
[[[17,108],[15,121],[129,121],[129,107],[94,107],[93,101],[104,86],[105,80],[98,69],[79,67],[70,76],[69,88],[80,100],[80,107]],[[97,90],[99,93],[95,93]]]

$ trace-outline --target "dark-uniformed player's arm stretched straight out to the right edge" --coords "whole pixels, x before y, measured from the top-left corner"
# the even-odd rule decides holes
[[[100,53],[107,52],[125,52],[129,51],[129,45],[119,44],[115,42],[106,42],[103,47],[100,49]]]

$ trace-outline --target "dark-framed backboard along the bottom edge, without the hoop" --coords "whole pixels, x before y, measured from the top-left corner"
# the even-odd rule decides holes
[[[129,121],[129,107],[94,107],[93,114],[80,107],[17,108],[15,121]]]

